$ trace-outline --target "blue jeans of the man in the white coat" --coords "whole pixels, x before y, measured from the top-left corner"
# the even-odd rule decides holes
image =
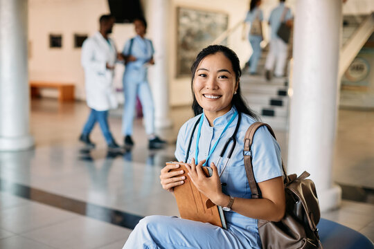
[[[92,129],[94,129],[96,122],[100,124],[101,131],[103,131],[104,138],[109,145],[109,143],[113,142],[113,137],[112,133],[110,133],[109,131],[108,111],[96,111],[94,109],[91,109],[89,118],[83,127],[83,135],[89,135]]]

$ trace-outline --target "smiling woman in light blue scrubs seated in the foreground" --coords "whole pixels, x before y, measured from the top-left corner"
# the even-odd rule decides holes
[[[253,174],[262,199],[251,199],[244,167],[243,140],[248,127],[256,122],[256,115],[247,107],[240,93],[239,59],[233,50],[212,45],[197,55],[191,71],[195,117],[179,130],[175,156],[178,161],[184,161],[192,136],[186,162],[188,175],[208,199],[225,207],[227,229],[176,216],[147,216],[139,221],[123,248],[261,248],[257,219],[280,221],[285,213],[279,145],[266,127],[256,132],[251,153]],[[226,140],[235,130],[238,113],[242,118],[235,136],[237,144],[220,176],[224,165],[217,161]],[[202,125],[193,132],[197,120]],[[213,169],[213,176],[204,176],[204,163]],[[174,187],[184,184],[183,171],[170,172],[178,167],[166,165],[161,169],[164,190],[173,192]]]

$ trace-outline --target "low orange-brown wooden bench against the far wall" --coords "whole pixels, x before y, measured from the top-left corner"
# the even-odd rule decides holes
[[[73,101],[74,84],[65,82],[30,82],[31,98],[40,97],[40,89],[57,89],[58,101]]]

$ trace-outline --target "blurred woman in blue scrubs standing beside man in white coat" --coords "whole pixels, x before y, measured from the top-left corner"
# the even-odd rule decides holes
[[[125,146],[132,147],[132,127],[136,96],[139,96],[143,107],[145,132],[148,135],[148,148],[159,149],[166,144],[154,133],[154,104],[150,85],[148,84],[148,66],[154,64],[152,41],[145,38],[147,22],[143,17],[134,19],[136,37],[128,40],[123,48],[125,73],[123,74],[123,91],[125,108],[122,117],[122,132]]]

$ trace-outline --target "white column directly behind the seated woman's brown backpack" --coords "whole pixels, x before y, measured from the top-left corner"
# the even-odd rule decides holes
[[[341,12],[341,0],[298,0],[294,19],[288,171],[311,174],[323,211],[341,201],[332,183]]]

